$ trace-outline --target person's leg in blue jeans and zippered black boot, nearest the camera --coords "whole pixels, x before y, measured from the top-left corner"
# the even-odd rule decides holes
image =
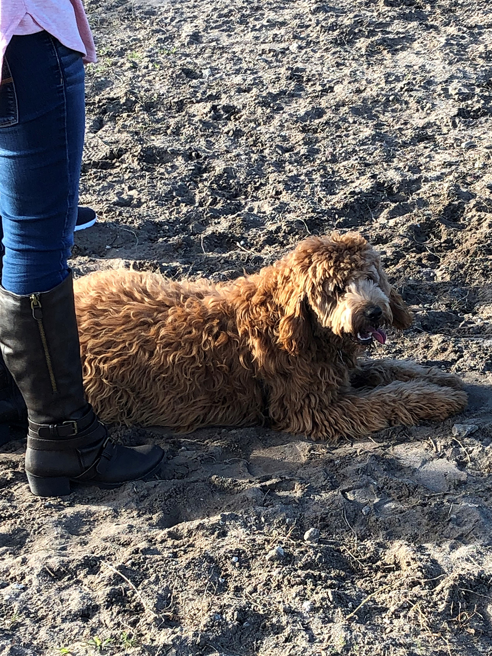
[[[14,37],[5,60],[13,86],[10,96],[0,91],[0,344],[28,407],[28,480],[41,496],[68,494],[71,481],[115,487],[152,473],[163,454],[110,443],[83,394],[67,264],[83,148],[81,55],[40,32]],[[5,98],[15,101],[7,110]]]

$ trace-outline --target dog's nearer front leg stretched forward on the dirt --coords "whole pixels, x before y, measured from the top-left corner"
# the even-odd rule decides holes
[[[443,420],[466,407],[464,392],[422,380],[392,382],[375,390],[340,394],[327,403],[312,392],[303,400],[284,399],[284,417],[272,419],[279,430],[336,441],[364,436],[387,426],[412,426],[422,420]],[[290,409],[289,409],[290,408]],[[288,410],[289,409],[289,410]]]

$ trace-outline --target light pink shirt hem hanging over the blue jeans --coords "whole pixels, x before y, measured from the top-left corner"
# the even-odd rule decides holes
[[[82,0],[0,0],[0,71],[3,55],[14,34],[46,30],[67,48],[96,62],[96,49]]]

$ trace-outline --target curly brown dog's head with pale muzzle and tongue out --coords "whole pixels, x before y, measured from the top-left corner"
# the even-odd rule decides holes
[[[282,262],[289,284],[279,340],[291,353],[302,345],[306,303],[324,328],[361,346],[386,341],[385,326],[404,329],[411,314],[388,282],[379,255],[359,234],[304,239]]]

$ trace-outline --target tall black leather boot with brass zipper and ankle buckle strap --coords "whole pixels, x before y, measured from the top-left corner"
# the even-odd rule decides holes
[[[0,287],[0,344],[28,407],[33,494],[68,495],[70,483],[118,487],[159,468],[162,449],[113,444],[85,400],[72,276],[28,296]]]

